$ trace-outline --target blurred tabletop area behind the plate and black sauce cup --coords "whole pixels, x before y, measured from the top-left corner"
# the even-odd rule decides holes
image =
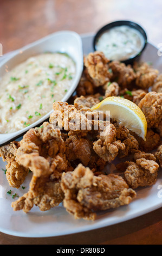
[[[4,54],[56,31],[95,33],[109,22],[132,20],[157,46],[161,10],[161,0],[1,0],[0,42]]]

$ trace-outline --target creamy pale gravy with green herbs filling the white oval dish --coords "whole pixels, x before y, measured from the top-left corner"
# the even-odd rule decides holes
[[[34,123],[68,92],[76,73],[73,60],[62,53],[30,57],[0,81],[0,133]]]

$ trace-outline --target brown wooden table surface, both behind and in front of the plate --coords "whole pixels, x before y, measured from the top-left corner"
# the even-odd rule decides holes
[[[115,20],[132,20],[146,30],[148,41],[162,42],[161,0],[1,0],[0,42],[3,54],[50,33],[72,30],[95,33]],[[0,233],[0,244],[161,244],[162,209],[96,231],[48,237],[23,238]]]

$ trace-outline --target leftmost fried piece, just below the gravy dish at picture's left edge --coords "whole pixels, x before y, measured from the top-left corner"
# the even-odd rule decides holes
[[[5,145],[0,148],[0,156],[2,160],[7,161],[6,165],[6,177],[11,187],[19,188],[23,184],[29,169],[24,168],[21,164],[17,162],[16,152],[20,143],[17,141],[10,142],[8,145]]]

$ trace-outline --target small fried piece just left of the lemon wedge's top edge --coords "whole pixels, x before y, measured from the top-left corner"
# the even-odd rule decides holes
[[[80,96],[74,100],[74,107],[80,111],[91,111],[91,108],[99,102],[98,98],[92,96]]]

